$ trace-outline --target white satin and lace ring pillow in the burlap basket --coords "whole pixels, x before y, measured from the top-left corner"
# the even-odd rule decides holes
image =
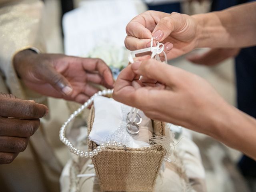
[[[152,121],[142,111],[138,112],[142,118],[139,125],[140,132],[137,135],[132,135],[126,131],[126,115],[132,107],[112,98],[96,96],[94,108],[95,118],[89,134],[90,140],[98,145],[115,140],[131,148],[149,146],[148,140],[153,136]]]

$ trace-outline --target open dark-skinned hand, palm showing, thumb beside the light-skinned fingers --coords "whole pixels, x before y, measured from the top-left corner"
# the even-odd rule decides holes
[[[111,70],[100,59],[63,54],[36,54],[31,50],[14,57],[14,68],[24,84],[40,94],[84,103],[100,84],[112,88]]]

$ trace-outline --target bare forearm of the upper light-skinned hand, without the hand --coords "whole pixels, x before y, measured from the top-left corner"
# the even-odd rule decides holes
[[[239,48],[256,44],[256,2],[192,17],[198,22],[196,48]]]

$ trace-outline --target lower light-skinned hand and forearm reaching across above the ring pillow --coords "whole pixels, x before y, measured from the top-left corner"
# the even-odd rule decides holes
[[[157,80],[142,84],[138,75]],[[256,120],[230,106],[204,79],[155,60],[134,62],[118,76],[113,98],[146,116],[212,136],[256,160]]]

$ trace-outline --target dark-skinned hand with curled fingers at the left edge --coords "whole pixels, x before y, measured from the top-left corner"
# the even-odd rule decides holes
[[[0,93],[0,164],[12,162],[28,145],[48,108],[33,101]]]

